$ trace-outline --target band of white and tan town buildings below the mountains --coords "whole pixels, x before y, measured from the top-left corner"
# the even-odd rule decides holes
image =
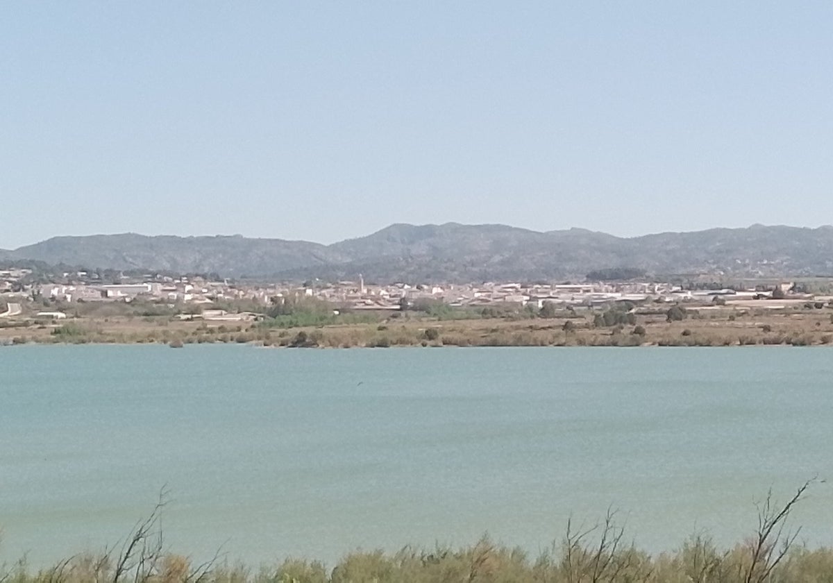
[[[242,283],[210,281],[204,277],[121,276],[124,282],[103,283],[94,272],[64,272],[47,283],[28,282],[30,269],[0,270],[0,301],[7,310],[0,316],[66,317],[60,311],[45,308],[51,305],[72,305],[77,302],[152,301],[182,307],[189,316],[198,307],[214,306],[218,302],[270,306],[288,299],[309,297],[326,301],[335,309],[347,311],[400,311],[421,300],[441,301],[451,307],[483,308],[513,304],[540,310],[546,303],[573,309],[610,306],[629,301],[677,303],[692,307],[721,305],[762,306],[777,309],[809,300],[830,301],[829,296],[816,297],[797,290],[794,282],[772,282],[766,285],[736,289],[729,287],[685,289],[680,284],[667,282],[582,282],[582,283],[520,283],[486,282],[481,284],[395,283],[375,285],[365,283],[362,276],[355,282],[325,283],[318,280],[302,284]],[[778,303],[761,302],[776,297]],[[754,302],[754,303],[750,303]],[[44,308],[44,309],[40,309]],[[257,310],[254,311],[257,313]],[[226,311],[209,311],[209,317],[232,317]]]

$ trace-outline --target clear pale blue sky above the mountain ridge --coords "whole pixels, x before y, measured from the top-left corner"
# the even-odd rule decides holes
[[[0,247],[833,222],[833,2],[3,2]]]

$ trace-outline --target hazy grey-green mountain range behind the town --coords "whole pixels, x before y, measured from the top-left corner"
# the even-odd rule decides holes
[[[576,228],[535,232],[505,225],[395,224],[332,245],[127,233],[53,237],[0,250],[0,260],[328,281],[357,279],[362,273],[374,282],[581,279],[611,268],[634,268],[649,276],[786,277],[833,274],[833,227],[754,225],[623,238]]]

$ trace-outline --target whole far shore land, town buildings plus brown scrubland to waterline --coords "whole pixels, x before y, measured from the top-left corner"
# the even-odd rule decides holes
[[[833,343],[830,290],[824,278],[380,285],[16,267],[0,270],[0,344],[808,346]]]

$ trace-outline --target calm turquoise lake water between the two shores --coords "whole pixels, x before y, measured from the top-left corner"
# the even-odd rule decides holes
[[[531,553],[621,509],[651,551],[736,541],[833,477],[825,348],[0,349],[0,560],[112,544],[166,486],[172,549]],[[833,491],[796,512],[833,544]]]

